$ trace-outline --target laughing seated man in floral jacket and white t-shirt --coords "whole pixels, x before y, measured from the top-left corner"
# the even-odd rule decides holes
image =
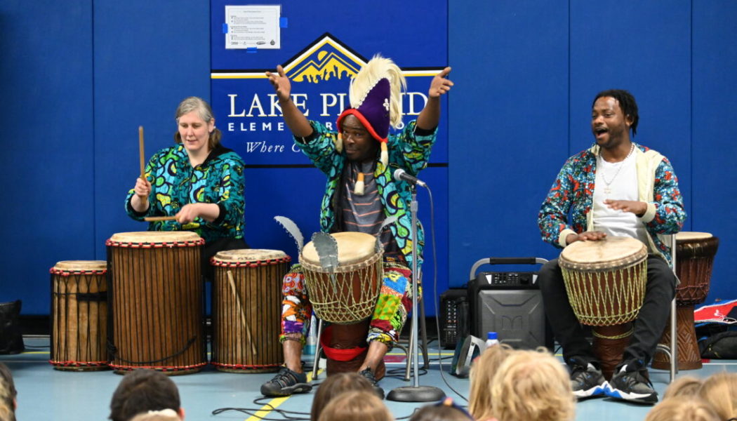
[[[551,260],[539,272],[545,313],[563,348],[577,397],[606,394],[657,402],[646,366],[666,326],[677,282],[662,236],[680,231],[685,212],[670,161],[630,139],[638,119],[637,103],[628,91],[597,94],[591,115],[595,145],[565,162],[538,215],[542,239],[553,246],[609,235],[637,238],[649,252],[645,301],[609,382],[571,309],[558,261]]]

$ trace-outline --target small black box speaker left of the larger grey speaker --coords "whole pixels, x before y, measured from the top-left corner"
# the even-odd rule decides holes
[[[452,288],[440,294],[440,346],[454,349],[470,333],[468,290]]]

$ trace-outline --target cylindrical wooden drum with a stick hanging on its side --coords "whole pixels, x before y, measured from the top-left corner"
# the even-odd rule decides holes
[[[273,372],[284,355],[279,345],[282,278],[291,258],[279,250],[220,251],[210,260],[212,358],[223,372]]]

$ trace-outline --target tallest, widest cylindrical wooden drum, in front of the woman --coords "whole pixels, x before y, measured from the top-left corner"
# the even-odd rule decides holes
[[[123,232],[108,246],[111,359],[116,372],[167,374],[206,365],[200,248],[194,232]]]

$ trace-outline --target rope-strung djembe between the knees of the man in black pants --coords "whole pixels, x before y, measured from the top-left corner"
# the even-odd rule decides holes
[[[630,237],[577,241],[558,263],[573,313],[592,327],[593,350],[609,380],[645,299],[647,248]]]

